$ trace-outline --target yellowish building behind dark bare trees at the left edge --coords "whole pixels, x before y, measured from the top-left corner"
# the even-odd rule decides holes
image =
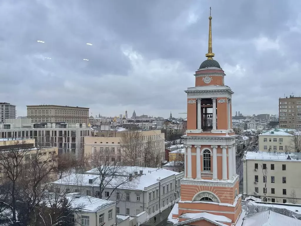
[[[5,155],[5,153],[10,154],[11,152],[22,152],[20,153],[20,157],[23,156],[23,159],[20,161],[23,162],[25,167],[30,167],[33,158],[36,158],[36,155],[39,155],[38,161],[39,163],[45,163],[46,161],[52,161],[53,157],[57,156],[58,148],[57,147],[36,147],[35,139],[1,139],[0,138],[0,151],[1,155]],[[2,161],[0,159],[0,161]],[[5,161],[5,160],[3,160]],[[36,161],[36,160],[35,160]],[[3,163],[6,164],[6,163]],[[12,167],[14,168],[14,167]],[[5,174],[5,169],[2,169],[2,164],[0,164],[0,184],[3,183],[7,174]],[[57,180],[57,174],[53,173],[50,175],[52,180]]]

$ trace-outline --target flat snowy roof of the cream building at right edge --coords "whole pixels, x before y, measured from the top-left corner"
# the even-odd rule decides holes
[[[273,160],[273,161],[301,161],[301,153],[298,152],[246,152],[247,160]]]

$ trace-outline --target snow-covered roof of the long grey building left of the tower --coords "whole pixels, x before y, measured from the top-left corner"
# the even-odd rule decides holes
[[[128,180],[128,177],[124,176],[118,176],[114,177],[113,180],[111,180],[111,177],[107,178],[107,180],[110,180],[109,183],[107,183],[107,188],[110,187],[117,187],[119,184],[122,184],[118,186],[120,189],[130,189],[130,190],[144,190],[144,188],[147,188],[153,184],[157,184],[157,179],[160,177],[161,179],[177,175],[180,173],[167,170],[167,169],[156,169],[153,171],[143,171],[142,175],[138,175],[135,178],[132,179],[132,181],[128,181],[124,184],[123,181]],[[92,181],[89,179],[92,179]],[[89,183],[89,182],[92,182]],[[78,186],[89,186],[89,187],[99,187],[100,184],[100,178],[98,175],[95,174],[70,174],[66,177],[61,178],[60,180],[52,182],[53,184],[62,184],[62,185],[78,185]]]

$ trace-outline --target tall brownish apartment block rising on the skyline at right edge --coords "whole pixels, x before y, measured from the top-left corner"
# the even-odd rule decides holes
[[[301,129],[301,97],[279,98],[279,126]]]

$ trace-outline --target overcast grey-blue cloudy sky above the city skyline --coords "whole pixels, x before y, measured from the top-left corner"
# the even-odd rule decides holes
[[[276,114],[280,96],[301,96],[300,0],[2,0],[0,102],[18,116],[54,104],[184,117],[210,6],[233,114]]]

